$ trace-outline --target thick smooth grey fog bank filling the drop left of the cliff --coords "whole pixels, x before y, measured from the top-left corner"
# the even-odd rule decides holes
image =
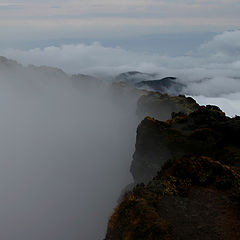
[[[132,180],[136,96],[56,69],[1,67],[0,238],[103,239]]]

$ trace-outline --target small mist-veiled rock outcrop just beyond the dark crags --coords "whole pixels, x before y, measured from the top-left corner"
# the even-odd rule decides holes
[[[171,97],[167,94],[151,92],[139,99],[137,115],[140,119],[150,116],[164,121],[171,118],[172,113],[188,114],[198,107],[199,105],[191,97],[184,95]]]

